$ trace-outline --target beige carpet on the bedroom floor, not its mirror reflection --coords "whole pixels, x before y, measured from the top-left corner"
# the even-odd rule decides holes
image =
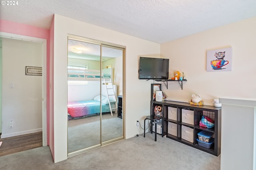
[[[0,170],[220,170],[220,156],[147,133],[55,163],[49,147],[0,157]]]

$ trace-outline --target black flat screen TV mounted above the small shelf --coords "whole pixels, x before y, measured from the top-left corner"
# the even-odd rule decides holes
[[[167,80],[169,59],[140,57],[139,79]]]

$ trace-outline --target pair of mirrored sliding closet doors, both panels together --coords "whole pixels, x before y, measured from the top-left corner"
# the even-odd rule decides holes
[[[123,139],[118,95],[124,49],[68,38],[68,156]]]

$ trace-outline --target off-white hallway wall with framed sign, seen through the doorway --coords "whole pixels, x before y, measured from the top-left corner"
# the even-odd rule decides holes
[[[42,67],[42,43],[3,38],[2,63],[1,137],[42,131],[42,76],[25,75],[26,66]]]

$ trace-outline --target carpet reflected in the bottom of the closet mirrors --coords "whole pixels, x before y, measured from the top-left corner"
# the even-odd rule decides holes
[[[102,114],[102,142],[123,136],[122,119]],[[68,121],[68,153],[100,144],[100,115]]]

